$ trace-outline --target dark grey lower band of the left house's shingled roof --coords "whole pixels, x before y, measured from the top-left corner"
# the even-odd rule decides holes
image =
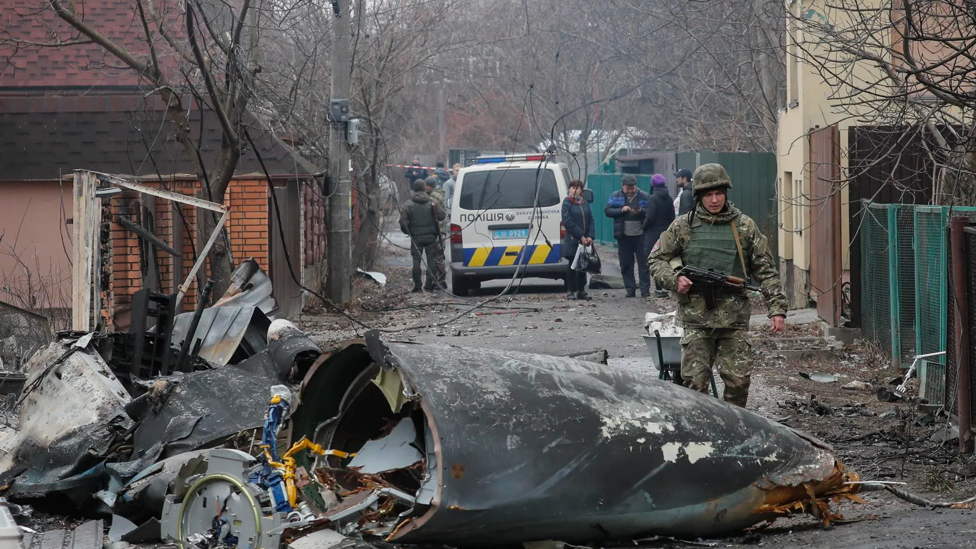
[[[204,164],[214,169],[223,134],[211,110],[191,109],[194,142]],[[307,177],[318,171],[257,119],[246,116],[250,134],[272,178]],[[195,177],[193,163],[177,141],[159,102],[141,96],[0,97],[0,181],[54,181],[76,169],[133,176]],[[158,172],[157,172],[158,170]],[[258,154],[245,144],[235,174],[264,172]]]

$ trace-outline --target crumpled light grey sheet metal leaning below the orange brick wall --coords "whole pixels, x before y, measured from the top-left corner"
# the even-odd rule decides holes
[[[192,320],[193,313],[176,316],[174,345],[185,339]],[[211,307],[203,311],[191,342],[202,339],[199,357],[223,366],[267,349],[266,334],[270,325],[271,321],[257,307]]]

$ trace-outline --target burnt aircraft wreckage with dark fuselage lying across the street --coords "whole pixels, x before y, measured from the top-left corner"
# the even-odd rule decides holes
[[[184,549],[713,536],[829,523],[857,497],[827,444],[612,366],[376,331],[320,353],[285,320],[257,337],[263,313],[225,315],[184,321],[193,367],[151,378],[113,365],[110,338],[61,334],[0,432],[6,495],[97,505]]]

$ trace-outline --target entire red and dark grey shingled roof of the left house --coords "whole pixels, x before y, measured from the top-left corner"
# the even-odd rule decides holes
[[[83,21],[147,59],[135,2],[76,0],[74,5]],[[165,25],[172,35],[184,35],[183,0],[156,0],[152,6],[161,16],[150,26]],[[78,38],[78,31],[61,21],[47,0],[0,0],[0,181],[53,181],[75,169],[195,177],[166,111],[151,93],[145,99],[151,88],[136,71],[94,44],[36,45]],[[161,67],[178,84],[180,56],[165,41],[155,47]],[[213,170],[223,143],[216,115],[184,101],[190,104],[194,142],[199,139],[204,164]],[[254,116],[246,115],[245,123],[272,177],[320,171]],[[263,174],[258,154],[248,144],[235,174]]]

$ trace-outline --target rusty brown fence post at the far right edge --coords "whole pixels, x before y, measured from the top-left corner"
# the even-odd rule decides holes
[[[959,409],[959,451],[972,451],[972,403],[969,399],[969,311],[966,298],[966,251],[963,229],[969,224],[964,217],[954,217],[949,234],[953,246],[953,297],[956,302],[956,401]],[[947,395],[948,397],[948,395]]]

